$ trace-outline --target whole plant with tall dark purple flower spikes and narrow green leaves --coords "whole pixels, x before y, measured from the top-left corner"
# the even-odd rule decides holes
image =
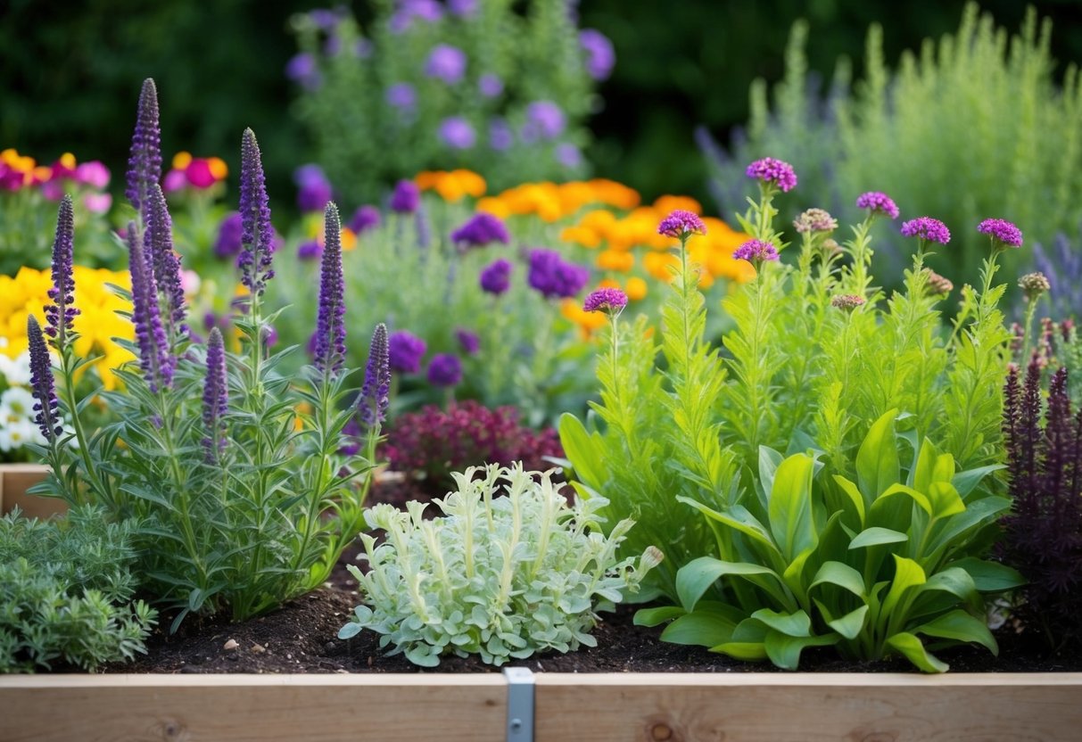
[[[151,85],[153,90],[153,85]],[[206,346],[184,324],[180,264],[154,168],[160,156],[156,105],[146,88],[133,137],[129,193],[141,217],[126,239],[132,276],[137,366],[118,371],[123,389],[103,394],[115,424],[80,424],[91,401],[77,399],[77,359],[70,326],[71,234],[63,216],[54,251],[54,305],[47,333],[60,357],[61,399],[44,335],[31,317],[38,421],[53,476],[43,491],[70,503],[91,502],[110,517],[134,518],[138,569],[147,588],[177,610],[173,628],[192,611],[228,610],[243,620],[320,585],[346,544],[364,527],[362,503],[380,440],[390,385],[386,330],[378,327],[364,387],[347,390],[339,217],[327,207],[327,248],[319,288],[314,365],[296,376],[280,372],[293,348],[268,354],[274,316],[262,295],[274,276],[274,231],[254,134],[241,142],[239,265],[248,290],[236,321],[239,354],[211,332]],[[74,432],[56,425],[57,410]],[[342,452],[343,429],[359,415],[361,455]],[[74,440],[72,440],[74,439]]]

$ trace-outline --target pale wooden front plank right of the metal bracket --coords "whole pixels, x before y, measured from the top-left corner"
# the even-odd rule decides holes
[[[538,742],[1082,740],[1082,674],[538,676]]]

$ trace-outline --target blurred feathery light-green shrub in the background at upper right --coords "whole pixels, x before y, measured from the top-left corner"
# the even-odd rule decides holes
[[[1030,10],[1008,40],[971,3],[955,35],[902,54],[892,72],[873,25],[860,81],[850,93],[843,62],[824,103],[808,84],[807,28],[796,24],[773,106],[765,83],[754,83],[747,142],[731,160],[714,158],[724,206],[741,200],[733,190],[737,163],[770,153],[792,161],[815,193],[829,194],[827,204],[843,218],[855,210],[840,195],[873,187],[905,204],[907,218],[934,213],[953,225],[1002,215],[1026,225],[1027,241],[1051,243],[1082,218],[1082,81],[1072,64],[1061,89],[1054,83],[1051,31],[1048,21],[1039,29]],[[806,206],[789,199],[782,210],[795,215]],[[888,242],[894,268],[902,264],[899,243]],[[972,276],[984,250],[966,231],[932,264],[948,278]],[[1008,257],[1006,265],[1015,264]],[[884,282],[900,281],[885,275]]]

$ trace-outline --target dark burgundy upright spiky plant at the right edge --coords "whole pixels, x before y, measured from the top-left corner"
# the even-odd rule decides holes
[[[1019,384],[1012,367],[1003,434],[1014,511],[1004,518],[1003,560],[1029,581],[1018,618],[1056,649],[1082,649],[1082,409],[1071,414],[1067,369],[1048,384],[1041,424],[1042,365]]]

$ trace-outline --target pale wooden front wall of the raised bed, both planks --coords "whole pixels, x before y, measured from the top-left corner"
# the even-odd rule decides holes
[[[535,675],[536,742],[1073,742],[1082,674]],[[0,677],[0,740],[527,740],[502,675]],[[528,730],[526,730],[528,731]]]

